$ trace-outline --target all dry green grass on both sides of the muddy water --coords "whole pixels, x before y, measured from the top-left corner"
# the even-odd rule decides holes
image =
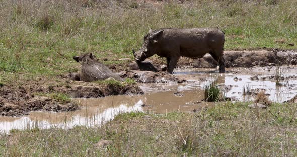
[[[141,47],[150,28],[219,27],[225,32],[225,50],[296,49],[289,44],[297,42],[297,1],[148,2],[0,0],[0,16],[5,17],[0,21],[0,85],[77,72],[80,65],[72,56],[80,53],[108,58],[104,64],[122,63],[117,59],[132,58],[131,50]],[[217,95],[216,86],[211,87]],[[68,101],[59,93],[41,95]],[[121,114],[101,127],[12,130],[0,136],[0,154],[296,156],[296,111],[292,104],[259,110],[227,102],[196,113]],[[112,144],[96,146],[101,139]]]

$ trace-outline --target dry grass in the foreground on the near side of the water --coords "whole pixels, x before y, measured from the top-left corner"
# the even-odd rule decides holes
[[[101,127],[14,130],[0,138],[5,156],[295,156],[296,105],[218,103],[196,113],[123,113]],[[133,126],[133,127],[131,127]],[[100,140],[112,141],[96,146]]]

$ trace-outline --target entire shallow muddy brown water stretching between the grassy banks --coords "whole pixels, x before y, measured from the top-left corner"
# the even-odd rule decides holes
[[[114,118],[120,112],[140,111],[147,113],[166,113],[173,111],[193,111],[204,106],[215,105],[203,102],[203,87],[216,80],[226,97],[234,97],[239,101],[253,100],[253,96],[243,97],[243,88],[265,89],[269,99],[274,102],[289,100],[297,94],[297,80],[284,79],[284,86],[276,87],[273,79],[262,80],[261,77],[275,75],[275,67],[228,68],[224,74],[216,69],[175,70],[175,76],[187,80],[183,84],[158,83],[139,84],[144,95],[109,96],[99,99],[76,99],[82,109],[72,112],[31,112],[23,117],[0,117],[0,130],[41,129],[58,127],[71,128],[76,125],[100,125]],[[297,75],[297,67],[281,67],[284,77]],[[259,80],[251,80],[257,76]],[[238,80],[234,78],[237,77]]]

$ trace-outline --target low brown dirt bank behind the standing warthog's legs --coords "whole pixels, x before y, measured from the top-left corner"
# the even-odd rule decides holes
[[[226,67],[253,67],[253,66],[273,66],[273,65],[297,65],[296,50],[234,50],[224,51]],[[162,71],[161,66],[166,65],[166,58],[151,57],[150,61],[158,71]],[[132,61],[131,61],[132,62]],[[190,59],[181,57],[178,60],[177,68],[214,68],[218,63],[206,54],[200,59]],[[112,65],[115,71],[122,71],[123,67],[130,70],[135,69],[128,63],[123,65]]]

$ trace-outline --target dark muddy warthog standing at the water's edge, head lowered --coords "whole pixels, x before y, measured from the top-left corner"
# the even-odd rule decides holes
[[[219,72],[225,72],[224,42],[224,32],[218,28],[150,29],[142,48],[133,54],[138,62],[154,54],[166,57],[167,72],[172,73],[179,57],[202,58],[209,53],[219,63]]]

